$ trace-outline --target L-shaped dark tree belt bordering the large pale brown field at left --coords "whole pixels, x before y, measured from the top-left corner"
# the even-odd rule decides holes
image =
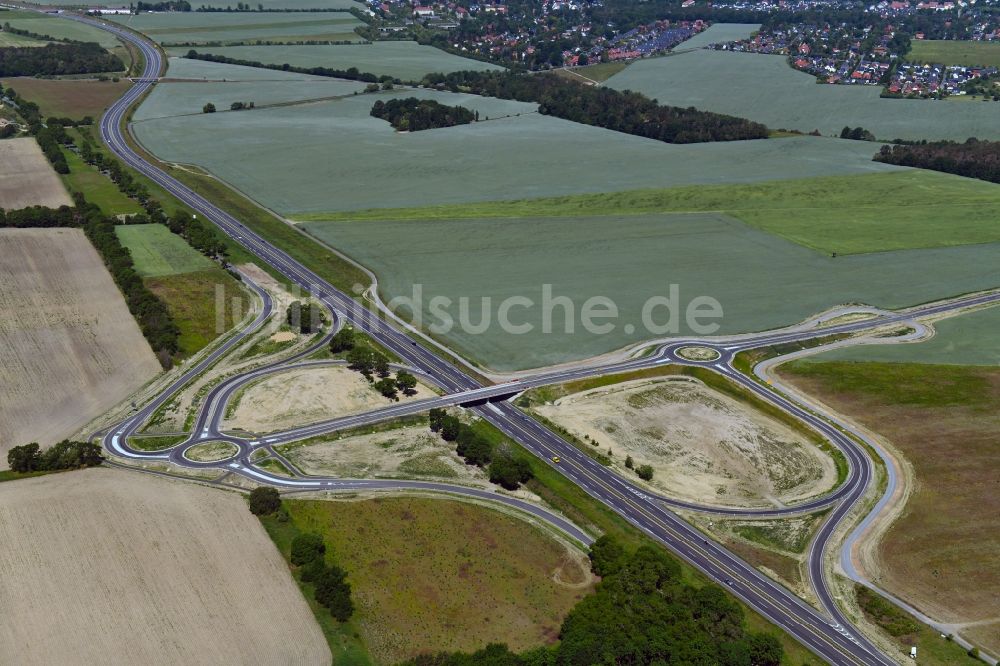
[[[115,284],[125,297],[129,312],[135,317],[143,336],[153,348],[164,367],[169,367],[170,359],[177,352],[177,338],[180,330],[166,304],[146,288],[135,270],[132,255],[129,254],[118,234],[115,220],[101,212],[101,209],[83,198],[80,193],[73,195],[75,208],[60,206],[57,209],[32,206],[21,210],[0,209],[2,227],[76,227],[83,230],[91,245],[104,260],[104,265]]]

